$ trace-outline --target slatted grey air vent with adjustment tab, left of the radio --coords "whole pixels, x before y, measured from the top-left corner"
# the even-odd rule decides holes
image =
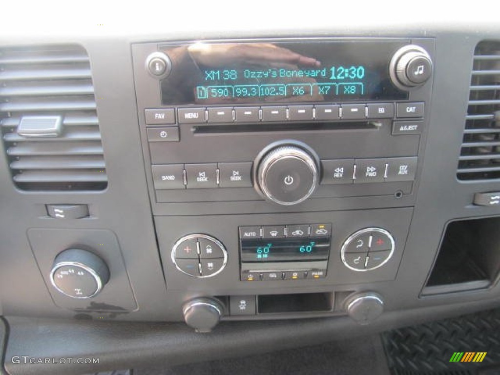
[[[107,186],[90,61],[82,47],[0,49],[0,125],[20,189]]]

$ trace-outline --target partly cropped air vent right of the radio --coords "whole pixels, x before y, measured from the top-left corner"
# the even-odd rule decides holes
[[[500,41],[475,48],[457,177],[500,178]]]

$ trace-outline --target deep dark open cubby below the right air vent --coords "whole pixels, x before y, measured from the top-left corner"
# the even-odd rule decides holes
[[[500,269],[500,217],[450,222],[423,295],[486,288]]]

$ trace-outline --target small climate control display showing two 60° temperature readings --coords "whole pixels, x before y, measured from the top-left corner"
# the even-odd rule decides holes
[[[241,261],[326,260],[328,237],[241,240]]]

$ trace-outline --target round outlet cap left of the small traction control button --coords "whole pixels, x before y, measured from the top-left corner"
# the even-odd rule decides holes
[[[223,307],[212,298],[196,298],[184,304],[182,313],[187,325],[196,332],[210,332],[222,317]]]

